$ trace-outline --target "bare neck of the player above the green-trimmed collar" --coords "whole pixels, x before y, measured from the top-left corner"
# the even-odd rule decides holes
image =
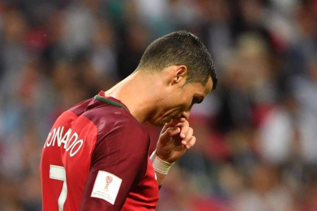
[[[105,95],[120,100],[140,123],[146,122],[157,105],[159,93],[155,90],[159,84],[155,83],[159,80],[155,78],[139,70],[107,90]]]

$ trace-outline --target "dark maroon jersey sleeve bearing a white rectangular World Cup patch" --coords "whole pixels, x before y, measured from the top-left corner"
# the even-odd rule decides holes
[[[130,190],[144,177],[149,137],[126,121],[97,141],[81,209],[121,210]]]

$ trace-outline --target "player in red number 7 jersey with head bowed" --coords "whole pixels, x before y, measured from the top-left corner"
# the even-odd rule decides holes
[[[195,144],[191,107],[216,84],[197,36],[152,42],[130,76],[57,118],[42,150],[43,210],[154,210],[171,164]],[[163,126],[151,157],[143,122]]]

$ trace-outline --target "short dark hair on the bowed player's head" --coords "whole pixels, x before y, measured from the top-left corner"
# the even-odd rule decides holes
[[[187,67],[186,83],[205,85],[211,77],[212,89],[217,86],[216,69],[207,48],[188,31],[172,32],[153,41],[146,48],[136,70],[163,70],[171,65]]]

